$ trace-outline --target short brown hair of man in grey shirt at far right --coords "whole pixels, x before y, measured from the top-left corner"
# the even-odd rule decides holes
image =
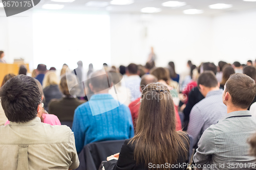
[[[249,76],[241,73],[230,76],[225,85],[234,106],[246,109],[250,106],[256,94],[256,84]]]

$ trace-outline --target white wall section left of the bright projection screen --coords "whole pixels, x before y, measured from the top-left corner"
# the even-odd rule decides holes
[[[3,11],[0,12],[3,15]],[[0,50],[5,52],[5,60],[24,58],[26,63],[33,61],[33,27],[31,12],[13,17],[0,17]]]

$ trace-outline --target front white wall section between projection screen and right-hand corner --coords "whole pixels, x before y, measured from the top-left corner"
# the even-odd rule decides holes
[[[169,61],[174,61],[177,71],[182,71],[189,59],[196,64],[211,60],[210,17],[144,17],[132,14],[110,16],[113,65],[127,65],[131,62],[145,64],[151,46],[154,46],[158,66],[166,66]]]

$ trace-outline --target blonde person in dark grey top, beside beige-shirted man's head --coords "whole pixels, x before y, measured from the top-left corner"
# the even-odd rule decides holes
[[[58,87],[59,81],[55,71],[48,71],[45,75],[42,87],[44,88],[44,94],[46,98],[45,108],[48,111],[48,104],[52,99],[62,98],[62,94]]]

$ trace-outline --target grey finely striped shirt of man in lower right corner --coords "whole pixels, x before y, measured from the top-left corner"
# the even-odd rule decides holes
[[[218,124],[206,129],[198,142],[194,162],[203,169],[256,169],[249,156],[247,139],[256,131],[256,118],[249,111],[226,114]],[[215,167],[213,166],[215,165]]]

